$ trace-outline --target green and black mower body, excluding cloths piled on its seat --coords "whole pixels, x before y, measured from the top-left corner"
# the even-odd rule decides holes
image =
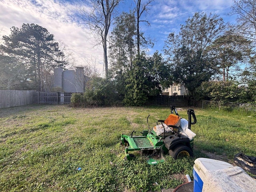
[[[170,106],[171,114],[175,112],[177,116],[178,112],[175,106]],[[192,124],[196,124],[196,116],[194,110],[188,109],[188,129],[191,129]],[[148,116],[149,117],[149,116]],[[191,122],[193,118],[193,122]],[[162,124],[164,120],[158,120]],[[148,118],[147,118],[148,124]],[[163,124],[162,124],[163,125]],[[163,151],[165,154],[170,154],[173,158],[178,158],[182,156],[193,156],[193,143],[194,139],[189,139],[178,132],[178,127],[174,125],[167,125],[173,128],[170,135],[166,136],[165,129],[164,135],[158,136],[154,130],[150,130],[148,125],[148,130],[143,130],[141,136],[133,136],[134,131],[131,136],[121,135],[122,145],[125,146],[125,158],[130,160],[134,157],[133,154],[129,154],[130,151],[144,151],[144,150],[156,150]],[[163,126],[164,128],[164,126]],[[176,130],[176,131],[175,131]]]

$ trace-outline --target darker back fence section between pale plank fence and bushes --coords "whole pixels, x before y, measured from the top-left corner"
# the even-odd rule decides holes
[[[68,104],[72,93],[33,92],[33,104]]]

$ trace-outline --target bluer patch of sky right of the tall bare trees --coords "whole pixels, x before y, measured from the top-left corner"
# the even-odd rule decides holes
[[[147,30],[158,39],[155,45],[164,46],[163,40],[167,39],[168,34],[178,33],[180,25],[185,24],[195,12],[218,14],[224,22],[234,22],[234,17],[226,16],[232,3],[232,0],[155,0],[148,17],[151,28]]]

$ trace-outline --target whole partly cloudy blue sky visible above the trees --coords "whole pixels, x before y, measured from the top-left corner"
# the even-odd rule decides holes
[[[226,15],[232,4],[232,0],[155,0],[145,15],[151,25],[141,25],[146,36],[156,39],[149,53],[161,52],[168,34],[178,32],[180,25],[195,12],[218,14],[225,23],[234,22],[235,16]],[[102,72],[102,47],[93,46],[88,27],[78,17],[77,8],[84,5],[82,0],[0,0],[0,36],[9,35],[12,26],[20,28],[23,23],[38,24],[54,34],[55,40],[66,44],[76,58],[77,66],[93,61]],[[118,11],[134,7],[133,0],[124,0]]]

